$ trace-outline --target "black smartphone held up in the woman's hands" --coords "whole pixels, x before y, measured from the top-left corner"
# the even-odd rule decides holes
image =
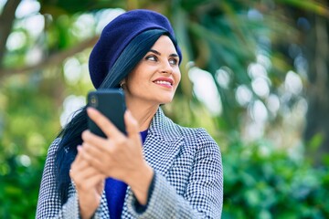
[[[124,93],[120,89],[102,89],[90,91],[88,93],[88,106],[99,110],[106,118],[111,120],[118,130],[124,134],[125,125],[123,115],[126,110]],[[96,123],[88,117],[89,130],[103,138],[106,138],[104,132]]]

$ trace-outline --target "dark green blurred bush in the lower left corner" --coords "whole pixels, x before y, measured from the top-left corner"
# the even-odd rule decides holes
[[[0,164],[1,218],[35,218],[44,157],[29,166],[20,158],[24,157],[6,157]]]

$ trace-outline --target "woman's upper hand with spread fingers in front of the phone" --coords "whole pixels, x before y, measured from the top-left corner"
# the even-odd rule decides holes
[[[121,180],[131,186],[141,204],[147,202],[153,170],[143,159],[142,141],[137,121],[126,111],[124,121],[127,136],[97,110],[89,108],[88,115],[105,133],[107,139],[82,133],[83,158],[102,174]]]

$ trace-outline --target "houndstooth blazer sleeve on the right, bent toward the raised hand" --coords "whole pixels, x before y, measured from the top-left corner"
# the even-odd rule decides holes
[[[138,214],[130,192],[128,211],[136,218],[220,218],[223,204],[223,169],[218,144],[199,129],[193,172],[181,196],[160,173],[155,174],[154,191],[146,210]]]

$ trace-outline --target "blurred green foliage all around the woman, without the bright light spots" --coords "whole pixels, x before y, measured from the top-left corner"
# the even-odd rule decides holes
[[[281,110],[274,114],[282,118],[282,115],[294,114],[293,111],[287,113],[293,109],[292,101],[289,101],[293,95],[288,94],[287,98],[286,90],[282,90],[286,72],[292,70],[289,63],[292,57],[284,54],[282,45],[295,44],[301,35],[292,25],[296,22],[287,16],[291,11],[284,14],[287,13],[284,4],[310,8],[310,11],[325,16],[328,11],[324,6],[297,0],[278,1],[281,5],[275,1],[218,0],[181,0],[170,1],[169,4],[164,0],[152,3],[38,2],[40,13],[45,17],[45,28],[40,35],[34,36],[23,25],[28,16],[20,18],[12,32],[24,36],[20,39],[23,43],[18,40],[15,45],[20,45],[20,42],[20,47],[8,49],[2,63],[5,68],[29,67],[29,61],[35,61],[27,58],[33,57],[33,53],[29,53],[33,47],[42,48],[47,62],[48,56],[69,50],[94,36],[96,24],[89,24],[89,19],[88,22],[80,20],[86,12],[92,16],[91,10],[118,6],[133,9],[133,6],[138,6],[167,12],[184,59],[181,85],[173,104],[164,106],[165,112],[181,125],[206,128],[221,146],[225,181],[223,218],[329,218],[329,204],[326,202],[329,195],[328,155],[324,156],[326,167],[316,169],[311,165],[313,157],[289,148],[289,143],[278,149],[266,137],[262,141],[245,143],[236,134],[242,132],[243,126],[248,123],[241,118],[248,117],[252,102],[255,99],[264,103],[269,100],[269,97],[259,97],[251,87],[255,78],[249,76],[248,68],[259,55],[266,59],[265,62],[260,59],[258,64],[271,64],[263,66],[268,71],[265,78],[271,94],[281,100]],[[97,11],[94,12],[98,19],[102,19],[101,13],[97,15]],[[250,18],[248,13],[256,13],[256,16],[254,14]],[[64,75],[73,76],[70,79],[63,77],[63,66],[69,63],[69,59],[73,59],[70,62],[73,68]],[[209,113],[196,99],[188,69],[185,68],[192,60],[196,67],[207,70],[217,83],[218,101],[223,108],[221,116]],[[18,76],[2,73],[6,76],[2,77],[0,74],[0,218],[35,217],[42,169],[48,145],[59,130],[59,110],[63,109],[63,99],[71,94],[83,97],[90,89],[87,61],[88,55],[81,53],[67,59],[63,56],[62,60],[53,64],[58,66],[50,69],[40,71],[37,68]],[[228,73],[227,88],[216,79],[218,69]],[[236,98],[241,85],[252,92],[249,104],[243,106]],[[291,117],[287,118],[291,120]],[[271,118],[268,123],[274,119]],[[268,130],[271,131],[292,130],[292,126],[277,120],[270,125]],[[231,136],[232,131],[235,134]],[[311,151],[317,151],[323,141],[324,136],[318,134],[307,146]]]

